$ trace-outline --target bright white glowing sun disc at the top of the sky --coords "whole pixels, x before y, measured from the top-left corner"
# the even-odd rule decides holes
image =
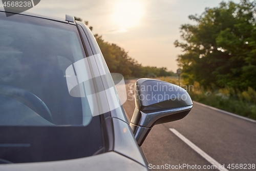
[[[113,21],[121,28],[131,28],[139,24],[142,14],[141,2],[119,0],[114,9]]]

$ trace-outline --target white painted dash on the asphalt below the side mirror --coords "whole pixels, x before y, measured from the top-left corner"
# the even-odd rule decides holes
[[[186,137],[180,134],[176,129],[169,128],[170,131],[172,131],[177,137],[179,137],[182,141],[184,141],[189,147],[194,149],[199,155],[201,155],[204,159],[206,159],[210,164],[215,165],[218,170],[220,171],[228,171],[228,169],[220,168],[220,163],[216,160],[212,159],[209,155],[207,155],[202,149],[200,149],[198,146],[196,146],[193,142],[189,141]]]

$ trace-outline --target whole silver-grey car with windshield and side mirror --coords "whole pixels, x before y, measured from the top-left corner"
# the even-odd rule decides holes
[[[148,132],[185,117],[193,103],[176,85],[139,79],[129,123],[117,82],[73,16],[0,9],[0,170],[148,170]],[[160,86],[168,89],[148,88]],[[168,98],[152,98],[159,94]]]

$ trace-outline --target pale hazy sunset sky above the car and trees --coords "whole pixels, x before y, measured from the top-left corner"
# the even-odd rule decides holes
[[[195,24],[188,15],[202,14],[206,7],[217,7],[221,0],[41,0],[28,12],[65,18],[82,18],[93,33],[114,43],[143,66],[166,67],[176,72],[183,24]],[[224,1],[227,2],[227,1]],[[238,3],[239,0],[233,2]],[[0,6],[3,6],[0,4]]]

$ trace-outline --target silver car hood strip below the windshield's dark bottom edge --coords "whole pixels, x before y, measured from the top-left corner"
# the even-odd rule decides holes
[[[0,170],[45,171],[45,170],[148,170],[145,166],[114,151],[108,153],[63,161],[2,164]]]

